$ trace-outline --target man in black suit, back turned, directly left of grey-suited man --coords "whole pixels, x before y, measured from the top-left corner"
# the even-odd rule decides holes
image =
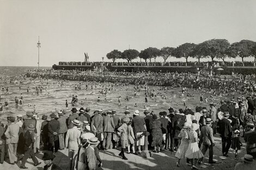
[[[48,136],[49,136],[49,145],[48,150],[53,152],[53,146],[55,148],[55,152],[58,152],[59,149],[59,122],[56,120],[56,115],[52,113],[50,115],[52,118],[51,121],[48,123]]]

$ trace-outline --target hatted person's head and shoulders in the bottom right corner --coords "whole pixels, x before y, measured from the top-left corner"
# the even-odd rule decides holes
[[[241,158],[241,160],[243,162],[236,163],[234,170],[240,170],[240,169],[251,170],[251,169],[255,168],[256,163],[253,160],[252,155],[245,154],[245,156],[243,158]]]

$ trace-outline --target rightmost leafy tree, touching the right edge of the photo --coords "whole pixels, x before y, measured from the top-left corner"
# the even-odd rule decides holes
[[[253,46],[254,42],[251,40],[241,40],[240,42],[234,42],[230,46],[230,55],[232,55],[234,58],[236,56],[241,57],[243,62],[243,58],[253,55]]]

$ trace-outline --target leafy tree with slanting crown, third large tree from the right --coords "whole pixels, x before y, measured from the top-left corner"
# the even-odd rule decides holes
[[[193,47],[194,47],[194,43],[184,43],[174,49],[173,56],[175,56],[176,58],[184,57],[186,59],[186,64],[187,64],[187,59],[188,57],[191,56]]]

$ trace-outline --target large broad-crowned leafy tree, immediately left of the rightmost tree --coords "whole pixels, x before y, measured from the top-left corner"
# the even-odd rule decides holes
[[[214,58],[220,56],[221,53],[224,53],[230,43],[225,39],[211,39],[203,42],[203,53],[205,56],[210,56],[211,60],[214,61]]]

